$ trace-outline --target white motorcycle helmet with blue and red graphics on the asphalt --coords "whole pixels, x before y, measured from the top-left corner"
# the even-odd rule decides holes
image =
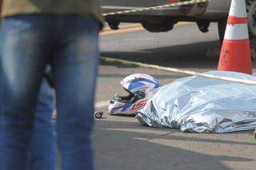
[[[112,115],[135,115],[138,109],[142,109],[146,102],[154,96],[161,87],[160,82],[154,77],[136,73],[125,77],[120,82],[127,96],[115,95],[109,105],[109,113]]]

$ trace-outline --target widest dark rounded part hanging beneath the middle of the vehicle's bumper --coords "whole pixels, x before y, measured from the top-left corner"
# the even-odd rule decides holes
[[[143,28],[150,32],[166,32],[174,28],[174,22],[165,20],[163,22],[142,22]]]

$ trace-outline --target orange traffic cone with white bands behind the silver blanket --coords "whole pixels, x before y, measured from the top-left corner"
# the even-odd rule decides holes
[[[245,0],[231,2],[218,70],[252,73]]]

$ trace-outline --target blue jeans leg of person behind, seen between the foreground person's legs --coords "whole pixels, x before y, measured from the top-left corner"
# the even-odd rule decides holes
[[[54,110],[54,90],[44,79],[34,113],[34,129],[29,150],[28,170],[54,170],[55,140],[51,116]]]

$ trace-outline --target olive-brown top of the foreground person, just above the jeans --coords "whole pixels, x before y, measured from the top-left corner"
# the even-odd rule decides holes
[[[3,0],[2,17],[17,14],[89,14],[103,21],[98,0]]]

